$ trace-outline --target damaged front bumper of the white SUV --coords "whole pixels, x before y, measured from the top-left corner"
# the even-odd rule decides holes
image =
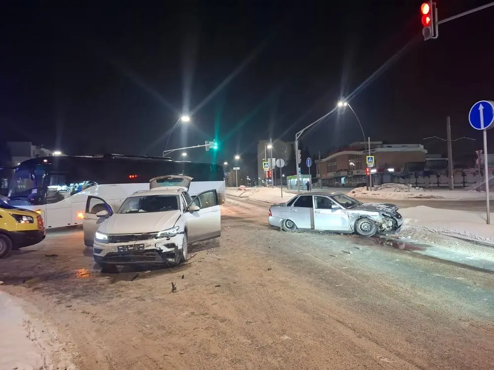
[[[114,265],[178,264],[183,241],[183,234],[131,243],[100,243],[95,240],[93,259],[96,263]]]

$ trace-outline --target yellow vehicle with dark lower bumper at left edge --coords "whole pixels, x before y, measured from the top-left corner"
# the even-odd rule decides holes
[[[12,249],[38,244],[45,236],[40,214],[13,207],[0,198],[0,259]]]

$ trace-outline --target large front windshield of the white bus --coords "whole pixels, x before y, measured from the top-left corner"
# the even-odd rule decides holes
[[[10,183],[9,198],[26,198],[27,204],[38,204],[45,173],[41,166],[17,168]]]

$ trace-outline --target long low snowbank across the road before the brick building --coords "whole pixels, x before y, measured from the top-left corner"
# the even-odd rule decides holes
[[[357,187],[348,192],[349,196],[356,198],[377,199],[446,199],[446,200],[483,200],[485,192],[472,190],[430,190],[422,187],[412,187],[403,184],[383,184],[372,187],[372,191],[366,187]],[[494,194],[493,194],[494,199]]]

